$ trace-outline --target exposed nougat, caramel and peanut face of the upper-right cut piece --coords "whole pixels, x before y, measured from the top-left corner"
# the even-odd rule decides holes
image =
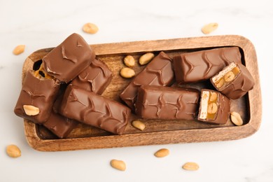
[[[227,85],[230,85],[230,83],[232,83],[232,80],[235,80],[235,78],[239,76],[239,73],[241,73],[241,70],[239,69],[237,64],[235,64],[235,62],[232,62],[211,79],[214,82],[214,85],[216,85],[216,87],[218,88],[218,90],[222,90]]]

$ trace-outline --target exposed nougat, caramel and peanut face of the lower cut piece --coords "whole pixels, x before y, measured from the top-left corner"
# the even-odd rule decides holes
[[[208,90],[201,95],[201,111],[199,118],[202,120],[214,120],[218,111],[218,94]]]

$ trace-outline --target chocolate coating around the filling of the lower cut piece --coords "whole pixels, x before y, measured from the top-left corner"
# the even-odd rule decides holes
[[[201,119],[200,113],[201,113],[201,106],[202,106],[202,99],[200,99],[200,109],[198,113],[198,120],[205,122],[205,123],[211,123],[211,124],[225,124],[228,122],[228,117],[230,116],[230,99],[228,97],[225,97],[225,95],[221,94],[220,92],[216,90],[209,90],[209,89],[202,89],[201,90],[201,96],[203,91],[209,91],[209,92],[216,92],[217,93],[217,104],[218,104],[218,110],[216,112],[216,116],[213,119]]]

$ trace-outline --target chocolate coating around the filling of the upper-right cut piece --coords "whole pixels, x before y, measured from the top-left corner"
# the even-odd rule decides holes
[[[239,99],[240,97],[243,97],[249,90],[253,89],[255,84],[254,79],[251,76],[251,73],[249,73],[248,69],[246,69],[246,66],[243,64],[237,64],[237,67],[240,70],[239,75],[232,80],[230,84],[221,89],[216,87],[212,81],[212,78],[210,79],[212,85],[214,85],[219,92],[225,94],[225,96],[230,99]]]

